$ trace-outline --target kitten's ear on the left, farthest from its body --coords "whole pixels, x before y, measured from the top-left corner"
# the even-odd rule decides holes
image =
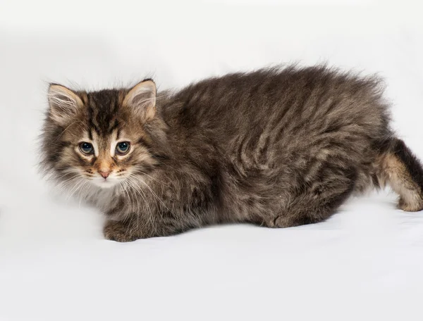
[[[59,125],[71,121],[83,105],[78,94],[60,84],[50,84],[48,97],[50,117]]]

